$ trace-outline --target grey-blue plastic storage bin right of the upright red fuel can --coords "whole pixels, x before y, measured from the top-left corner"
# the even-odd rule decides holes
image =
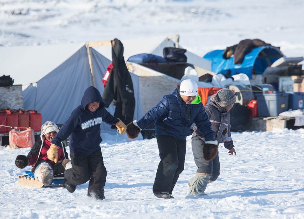
[[[259,93],[257,97],[257,109],[260,117],[278,116],[288,110],[288,93]]]

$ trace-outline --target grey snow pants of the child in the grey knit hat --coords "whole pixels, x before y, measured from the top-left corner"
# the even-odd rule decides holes
[[[215,181],[217,177],[219,177],[219,151],[217,151],[217,154],[213,160],[205,160],[203,157],[204,143],[205,142],[199,137],[192,137],[192,152],[194,156],[194,162],[198,168],[196,172],[202,174],[210,174],[210,180]]]

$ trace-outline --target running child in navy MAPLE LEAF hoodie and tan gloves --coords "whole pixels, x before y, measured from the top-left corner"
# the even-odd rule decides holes
[[[70,136],[72,168],[64,172],[65,187],[74,192],[76,185],[89,180],[88,196],[100,200],[105,199],[103,187],[107,176],[100,149],[102,121],[116,125],[119,134],[126,133],[126,125],[105,109],[98,89],[90,86],[85,90],[81,105],[73,110],[47,151],[48,158],[56,163],[60,142]]]

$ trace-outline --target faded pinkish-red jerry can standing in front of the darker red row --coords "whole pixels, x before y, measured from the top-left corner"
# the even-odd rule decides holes
[[[9,145],[17,147],[33,147],[35,143],[34,130],[29,127],[16,127],[9,131]]]

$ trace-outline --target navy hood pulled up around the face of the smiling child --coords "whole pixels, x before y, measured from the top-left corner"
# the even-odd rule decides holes
[[[102,110],[102,108],[105,107],[105,102],[103,101],[98,89],[93,86],[90,86],[85,90],[85,93],[81,98],[81,106],[85,111],[90,112],[86,108],[86,106],[88,105],[88,103],[92,102],[99,102],[99,107],[96,109],[96,111]]]

